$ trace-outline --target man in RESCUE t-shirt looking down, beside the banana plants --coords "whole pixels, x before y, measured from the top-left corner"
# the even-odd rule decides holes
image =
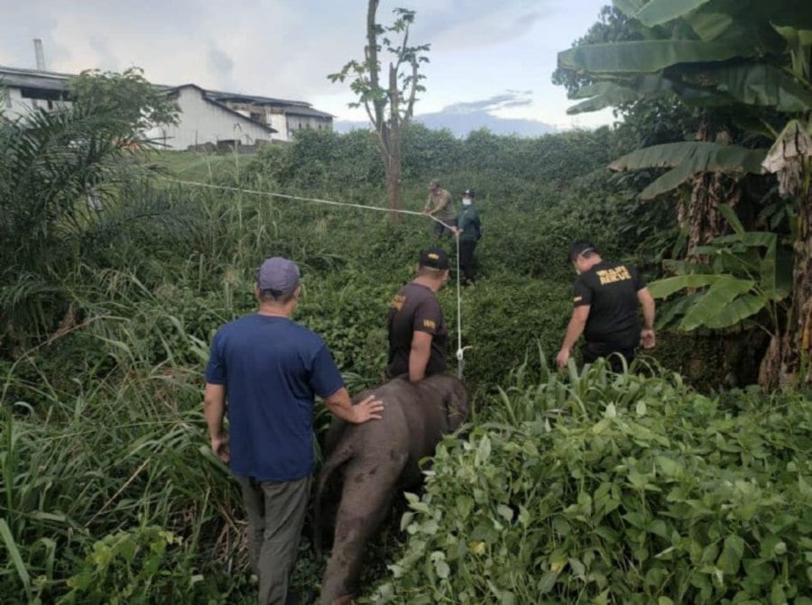
[[[567,365],[572,347],[583,333],[584,362],[609,357],[613,370],[621,371],[623,362],[612,353],[632,362],[638,344],[646,349],[654,347],[654,298],[634,267],[604,261],[591,242],[573,243],[569,261],[578,274],[575,309],[556,363],[559,368]],[[642,329],[638,306],[642,307]]]

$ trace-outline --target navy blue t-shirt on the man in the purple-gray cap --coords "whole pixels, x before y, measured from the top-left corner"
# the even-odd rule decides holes
[[[241,317],[217,331],[206,380],[226,386],[236,476],[296,481],[313,472],[314,395],[344,386],[318,335],[285,317]]]

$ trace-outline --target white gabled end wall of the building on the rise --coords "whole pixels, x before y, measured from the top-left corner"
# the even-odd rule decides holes
[[[180,123],[153,128],[147,133],[150,138],[165,142],[167,149],[185,150],[190,145],[226,140],[238,140],[246,145],[271,140],[271,133],[261,126],[208,103],[197,88],[180,88],[178,95]]]

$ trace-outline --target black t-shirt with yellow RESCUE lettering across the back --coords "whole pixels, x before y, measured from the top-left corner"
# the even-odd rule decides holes
[[[589,305],[584,337],[587,343],[634,348],[640,342],[637,292],[646,287],[634,267],[601,261],[578,276],[576,307]]]

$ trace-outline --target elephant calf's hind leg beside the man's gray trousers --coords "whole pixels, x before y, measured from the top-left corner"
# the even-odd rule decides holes
[[[385,483],[376,481],[374,474],[374,470],[346,473],[344,493],[336,516],[333,551],[321,585],[322,605],[331,605],[355,590],[364,563],[366,542],[392,505],[395,482],[391,477],[385,478]]]

